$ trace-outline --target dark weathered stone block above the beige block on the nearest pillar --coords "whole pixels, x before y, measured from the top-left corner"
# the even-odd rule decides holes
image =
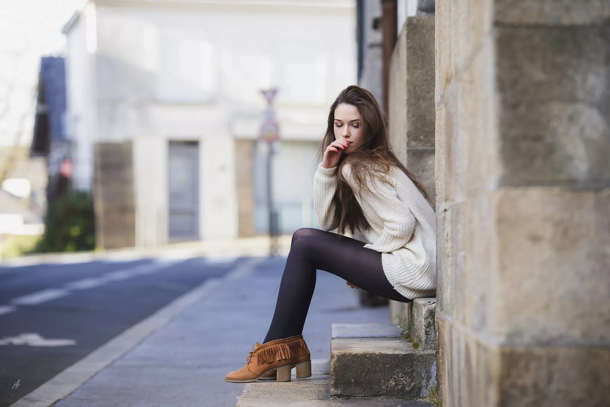
[[[610,27],[498,27],[501,185],[610,184]]]

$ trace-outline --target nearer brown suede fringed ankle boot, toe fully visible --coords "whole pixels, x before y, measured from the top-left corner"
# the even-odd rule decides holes
[[[284,343],[284,339],[270,340],[262,345],[256,342],[246,358],[246,366],[229,373],[224,380],[248,383],[277,370],[277,381],[290,381],[290,355],[289,345]]]

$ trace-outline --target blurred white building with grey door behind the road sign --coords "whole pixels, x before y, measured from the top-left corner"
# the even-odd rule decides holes
[[[318,226],[315,153],[329,105],[356,82],[355,22],[351,0],[98,0],[75,13],[63,29],[74,187],[94,190],[101,244],[266,233],[256,140],[269,87],[281,231]]]

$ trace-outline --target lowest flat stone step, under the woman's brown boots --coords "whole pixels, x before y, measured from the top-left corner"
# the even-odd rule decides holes
[[[297,379],[292,370],[292,381],[256,381],[246,387],[235,407],[433,407],[420,400],[397,400],[396,398],[359,397],[351,400],[337,400],[329,391],[329,360],[312,359],[312,376]]]

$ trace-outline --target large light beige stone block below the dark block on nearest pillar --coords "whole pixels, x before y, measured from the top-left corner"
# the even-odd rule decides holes
[[[610,343],[610,188],[501,188],[493,336],[512,345]]]

